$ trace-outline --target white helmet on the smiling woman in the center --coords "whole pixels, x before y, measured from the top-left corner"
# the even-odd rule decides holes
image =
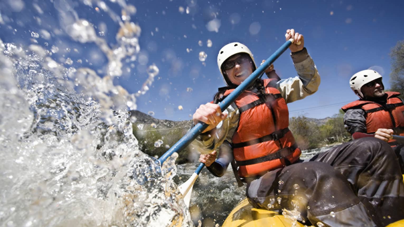
[[[227,79],[226,74],[224,72],[222,72],[221,68],[222,68],[223,62],[225,62],[225,60],[227,60],[227,58],[233,56],[234,54],[238,54],[238,53],[246,53],[246,54],[250,55],[252,62],[254,62],[254,57],[252,56],[250,49],[248,49],[248,47],[246,45],[241,44],[239,42],[229,43],[229,44],[223,46],[219,50],[219,54],[217,55],[217,66],[219,66],[219,71],[223,75],[223,79],[224,79],[226,85],[231,85],[231,82],[229,81],[229,79]],[[252,71],[255,71],[255,69],[257,69],[255,62],[253,64],[253,68],[254,69]]]

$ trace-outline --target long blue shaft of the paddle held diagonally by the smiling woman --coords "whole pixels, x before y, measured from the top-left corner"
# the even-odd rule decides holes
[[[292,44],[290,40],[286,41],[274,54],[272,54],[265,62],[258,67],[251,75],[247,77],[236,89],[231,92],[222,102],[219,103],[221,111],[224,111],[232,102],[234,102],[238,96],[240,96],[248,87],[250,87],[254,81],[261,77],[265,69],[267,69],[278,57],[285,52],[286,49]],[[208,127],[208,124],[199,122],[193,128],[191,128],[177,143],[175,143],[166,153],[164,153],[158,160],[162,165],[163,162],[170,157],[174,152],[179,152],[187,147],[193,140],[195,140],[202,131]],[[199,167],[203,167],[201,163]],[[198,168],[199,168],[198,167]],[[202,169],[202,168],[201,168]],[[198,170],[198,169],[197,169]]]

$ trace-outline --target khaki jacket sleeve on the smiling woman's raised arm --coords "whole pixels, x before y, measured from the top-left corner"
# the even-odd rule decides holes
[[[291,56],[298,76],[281,79],[276,83],[276,88],[286,103],[295,102],[314,94],[320,85],[320,75],[306,48],[292,53]]]

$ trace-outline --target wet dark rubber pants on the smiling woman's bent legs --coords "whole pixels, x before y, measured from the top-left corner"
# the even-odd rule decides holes
[[[354,140],[247,185],[256,208],[299,211],[315,226],[385,226],[404,219],[396,154],[373,137]],[[321,223],[321,224],[320,224]]]

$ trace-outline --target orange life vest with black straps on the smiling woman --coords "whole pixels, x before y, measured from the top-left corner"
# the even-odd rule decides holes
[[[276,79],[275,79],[276,80]],[[286,101],[264,79],[265,93],[245,91],[235,101],[240,111],[238,128],[232,137],[234,159],[240,177],[262,175],[295,162],[301,150],[289,131]],[[234,89],[226,90],[224,96]]]

